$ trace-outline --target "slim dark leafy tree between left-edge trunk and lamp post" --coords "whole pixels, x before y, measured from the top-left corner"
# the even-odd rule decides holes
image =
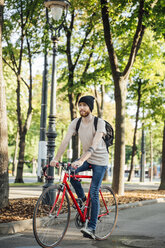
[[[40,52],[38,37],[39,28],[41,29],[41,20],[38,17],[41,13],[41,1],[6,1],[9,10],[8,18],[5,19],[4,40],[6,42],[5,63],[14,72],[17,81],[17,121],[19,131],[19,158],[17,166],[17,175],[15,182],[23,182],[23,165],[25,155],[25,140],[27,131],[30,128],[32,118],[32,59],[33,56]],[[42,15],[41,15],[42,16]],[[15,32],[16,40],[12,40],[13,32]],[[36,34],[36,35],[35,35]],[[35,37],[35,38],[34,38]],[[22,65],[28,64],[27,73],[22,70]],[[23,101],[22,89],[26,88],[27,102]],[[24,106],[23,106],[24,105]],[[26,109],[26,113],[23,111]]]

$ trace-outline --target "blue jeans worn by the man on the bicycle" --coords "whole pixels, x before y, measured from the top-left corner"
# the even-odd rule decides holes
[[[79,172],[89,170],[91,167],[93,172],[92,182],[91,182],[91,188],[90,188],[90,198],[91,198],[91,218],[88,223],[88,227],[95,230],[96,224],[97,224],[97,217],[100,210],[100,201],[99,201],[99,188],[101,186],[101,182],[103,180],[105,171],[107,169],[107,166],[100,166],[100,165],[90,165],[87,161],[83,163],[82,166],[78,167],[75,170],[75,173],[78,174]],[[75,192],[78,196],[78,198],[84,198],[84,190],[82,188],[82,185],[79,181],[74,180],[71,178],[70,180],[73,188],[75,189]]]

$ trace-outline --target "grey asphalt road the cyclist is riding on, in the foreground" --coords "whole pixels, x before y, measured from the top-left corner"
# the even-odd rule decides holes
[[[163,248],[165,247],[165,202],[120,210],[113,234],[105,241],[82,237],[74,223],[57,248]],[[1,235],[0,248],[39,248],[32,231]]]

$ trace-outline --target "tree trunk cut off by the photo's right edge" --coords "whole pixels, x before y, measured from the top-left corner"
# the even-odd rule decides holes
[[[161,170],[161,183],[159,190],[165,190],[165,121],[163,130],[163,143],[162,143],[162,170]]]

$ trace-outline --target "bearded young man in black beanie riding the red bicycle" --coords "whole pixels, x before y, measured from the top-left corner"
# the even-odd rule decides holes
[[[72,167],[75,168],[75,173],[86,171],[89,168],[92,169],[93,178],[90,189],[91,197],[91,219],[87,228],[82,228],[81,232],[84,237],[95,239],[95,229],[97,224],[97,217],[99,214],[99,188],[104,177],[104,173],[108,165],[108,152],[103,135],[106,134],[105,122],[102,119],[98,119],[97,131],[94,127],[94,116],[92,110],[94,106],[93,96],[83,96],[78,103],[79,113],[82,117],[78,134],[83,147],[82,156],[72,163]],[[79,118],[74,119],[68,129],[68,132],[62,141],[59,150],[55,158],[50,162],[51,166],[56,166],[61,155],[64,153],[70,138],[76,134],[76,124]],[[85,201],[86,197],[81,183],[76,180],[71,180],[71,183],[76,191],[78,198]]]

